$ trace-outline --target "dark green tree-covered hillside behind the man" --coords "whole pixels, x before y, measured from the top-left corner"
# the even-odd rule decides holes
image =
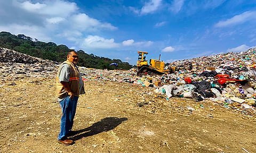
[[[0,47],[12,49],[20,53],[30,56],[42,58],[44,60],[51,60],[54,62],[63,62],[67,59],[69,49],[66,45],[56,45],[55,43],[45,43],[38,41],[25,35],[12,35],[10,32],[0,32]],[[122,62],[118,59],[111,60],[106,57],[99,57],[93,54],[86,54],[83,50],[77,50],[79,55],[78,66],[84,66],[94,69],[108,69],[108,70],[129,70],[132,68],[128,62]],[[110,66],[111,63],[117,63],[118,66]]]

